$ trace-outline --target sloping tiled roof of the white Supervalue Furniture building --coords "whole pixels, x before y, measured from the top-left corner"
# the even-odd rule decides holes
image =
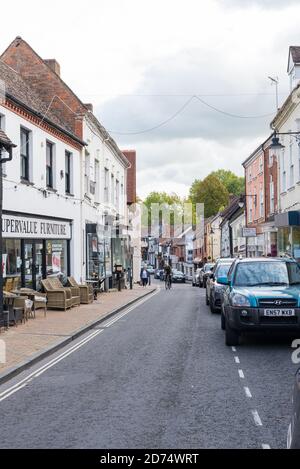
[[[47,118],[48,121],[59,126],[62,130],[73,134],[72,129],[66,122],[59,118],[59,115],[43,103],[39,96],[31,89],[28,83],[11,67],[0,60],[0,80],[5,84],[5,93],[8,97],[15,98],[32,111]],[[77,137],[76,137],[77,138]]]

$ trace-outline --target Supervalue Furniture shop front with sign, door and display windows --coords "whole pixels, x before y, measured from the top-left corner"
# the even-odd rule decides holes
[[[4,289],[41,290],[43,278],[70,275],[70,220],[19,215],[2,217]]]

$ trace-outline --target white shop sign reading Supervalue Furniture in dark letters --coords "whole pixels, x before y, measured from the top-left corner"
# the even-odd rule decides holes
[[[29,218],[14,215],[2,216],[3,238],[70,239],[71,225],[61,220]]]

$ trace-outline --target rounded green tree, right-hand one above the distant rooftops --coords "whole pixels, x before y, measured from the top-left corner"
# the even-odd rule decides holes
[[[209,174],[203,181],[195,179],[190,188],[190,200],[204,204],[204,216],[216,215],[229,202],[229,192],[215,174]]]

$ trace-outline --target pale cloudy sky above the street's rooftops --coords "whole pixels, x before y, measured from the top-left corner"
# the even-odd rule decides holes
[[[14,0],[0,50],[16,37],[61,76],[121,149],[137,151],[137,187],[186,196],[193,180],[241,163],[270,134],[300,45],[299,0]],[[214,109],[213,109],[214,108]],[[217,110],[216,110],[217,109]],[[221,112],[220,112],[221,111]],[[229,115],[228,115],[229,114]],[[236,117],[239,116],[239,117]]]

